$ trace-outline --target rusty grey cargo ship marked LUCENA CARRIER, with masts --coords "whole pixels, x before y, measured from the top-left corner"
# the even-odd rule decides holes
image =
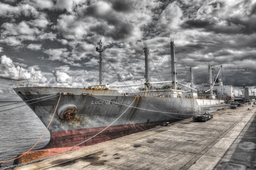
[[[99,52],[100,57],[100,81],[96,86],[40,87],[38,80],[14,82],[13,90],[20,98],[26,101],[46,127],[50,123],[48,127],[50,140],[43,148],[29,151],[16,159],[13,164],[66,153],[151,129],[166,122],[177,122],[206,111],[210,113],[229,106],[223,99],[216,98],[212,88],[210,88],[211,95],[207,97],[185,94],[184,87],[189,88],[194,94],[199,92],[176,82],[173,39],[168,43],[172,81],[150,82],[149,50],[145,45],[145,76],[142,75],[145,77],[145,83],[119,86],[102,84],[102,42],[97,44],[99,48],[96,47],[96,51]],[[159,87],[155,86],[156,84],[163,85]],[[138,88],[136,92],[119,93],[113,89],[141,85],[143,88]]]

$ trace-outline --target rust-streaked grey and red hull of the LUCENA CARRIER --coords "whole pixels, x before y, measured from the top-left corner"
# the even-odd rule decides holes
[[[164,122],[172,123],[205,111],[213,112],[228,107],[220,100],[135,97],[121,95],[115,90],[57,87],[27,87],[14,90],[24,101],[36,99],[26,103],[46,127],[58,105],[48,128],[51,135],[48,145],[30,151],[16,159],[14,164],[37,160],[58,152],[63,153],[66,149],[68,150],[64,152],[84,148],[151,129]],[[72,95],[61,95],[60,100],[59,96],[46,99],[46,96],[57,92],[72,92]],[[81,95],[82,93],[92,95]],[[40,98],[39,102],[34,103],[38,101],[37,98]],[[76,115],[70,120],[62,119],[58,114],[58,109],[67,104],[77,108]],[[96,135],[105,128],[107,129]],[[93,137],[94,135],[96,136]],[[91,137],[93,138],[89,139]],[[87,139],[89,140],[84,142]]]

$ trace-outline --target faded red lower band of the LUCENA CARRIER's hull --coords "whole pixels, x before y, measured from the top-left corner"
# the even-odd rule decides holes
[[[110,126],[106,130],[104,130],[102,133],[100,133],[99,135],[95,136],[92,139],[89,139],[89,138],[96,135],[106,127],[51,132],[50,141],[46,146],[44,146],[43,148],[28,152],[24,156],[16,159],[13,162],[13,164],[30,162],[33,160],[44,158],[46,156],[50,156],[52,154],[61,152],[75,145],[78,145],[79,143],[82,143],[86,139],[89,139],[89,140],[65,152],[69,152],[71,150],[76,150],[76,149],[84,148],[86,146],[91,146],[98,143],[110,141],[113,139],[117,139],[119,137],[131,135],[137,132],[154,128],[154,126],[160,125],[162,123],[163,122],[150,122],[150,123]],[[61,152],[60,154],[62,153],[64,152]]]

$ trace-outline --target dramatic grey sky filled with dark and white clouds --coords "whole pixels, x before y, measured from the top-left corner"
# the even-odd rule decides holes
[[[173,38],[184,63],[176,54],[178,82],[191,83],[190,66],[196,86],[207,82],[210,63],[216,72],[222,65],[218,77],[234,94],[242,84],[256,92],[255,0],[1,0],[0,18],[0,99],[18,98],[20,67],[20,79],[39,86],[98,85],[100,39],[103,84],[143,83],[145,44],[150,74],[162,59],[151,80],[170,80],[164,54]]]

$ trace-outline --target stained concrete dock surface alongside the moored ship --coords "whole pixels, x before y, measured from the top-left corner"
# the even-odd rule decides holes
[[[255,108],[218,110],[207,122],[190,118],[14,169],[256,169]]]

